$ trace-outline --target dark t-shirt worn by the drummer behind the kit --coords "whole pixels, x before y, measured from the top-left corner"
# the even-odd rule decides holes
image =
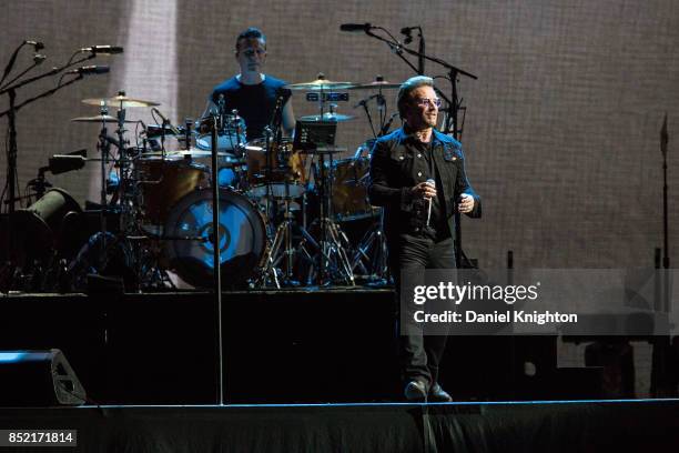
[[[290,90],[282,89],[285,84],[271,76],[265,76],[262,83],[254,85],[241,83],[232,77],[214,88],[210,100],[217,104],[220,94],[224,94],[226,112],[231,113],[234,109],[239,111],[239,115],[245,120],[246,138],[250,141],[264,135],[264,128],[271,123],[276,108],[278,91],[283,95],[281,107],[292,95]]]

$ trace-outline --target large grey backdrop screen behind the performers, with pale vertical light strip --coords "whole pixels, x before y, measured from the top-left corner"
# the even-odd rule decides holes
[[[652,265],[661,244],[659,131],[669,115],[670,225],[679,220],[679,3],[675,0],[528,0],[336,2],[185,0],[6,0],[0,7],[1,66],[23,39],[47,44],[45,68],[73,50],[119,44],[92,76],[19,113],[19,175],[33,178],[57,152],[88,148],[98,127],[70,118],[97,114],[83,98],[113,95],[161,102],[174,120],[195,117],[211,87],[236,71],[234,37],[249,26],[268,37],[266,71],[291,82],[322,71],[365,82],[402,81],[412,71],[385,44],[345,33],[343,22],[372,22],[396,33],[420,24],[427,51],[478,76],[462,79],[468,107],[463,142],[467,172],[484,198],[484,219],[464,222],[465,249],[483,266]],[[30,52],[18,60],[28,64]],[[429,64],[432,76],[443,73]],[[19,101],[55,83],[20,90]],[[440,83],[448,90],[446,83]],[[361,93],[357,93],[361,94]],[[389,92],[389,109],[393,95]],[[340,144],[351,152],[369,137],[353,98],[340,111]],[[4,110],[2,99],[0,109]],[[297,115],[314,112],[300,93]],[[129,115],[150,121],[144,109]],[[0,134],[6,137],[7,120]],[[0,160],[4,182],[7,158]],[[78,200],[97,200],[98,171],[51,178]],[[678,243],[677,229],[670,241]],[[678,244],[679,246],[679,244]]]

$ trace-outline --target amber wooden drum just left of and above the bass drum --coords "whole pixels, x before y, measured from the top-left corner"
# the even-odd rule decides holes
[[[183,155],[146,157],[135,165],[146,225],[162,225],[178,201],[210,183],[210,169]]]

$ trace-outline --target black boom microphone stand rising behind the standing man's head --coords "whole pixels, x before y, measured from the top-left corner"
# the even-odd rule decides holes
[[[443,128],[443,133],[453,133],[453,137],[456,140],[459,140],[462,130],[458,127],[458,119],[457,119],[457,111],[460,108],[459,105],[460,101],[457,98],[457,78],[458,76],[465,76],[473,80],[477,80],[478,78],[474,76],[473,73],[467,72],[463,69],[459,69],[439,58],[429,57],[425,54],[424,33],[422,32],[422,28],[419,28],[419,51],[415,51],[413,49],[409,49],[403,46],[392,36],[392,33],[388,32],[388,30],[386,30],[383,27],[373,27],[373,29],[383,30],[389,36],[392,40],[381,37],[378,34],[375,34],[369,29],[365,30],[365,34],[367,34],[368,37],[375,38],[378,41],[385,42],[392,49],[392,51],[394,51],[394,53],[396,53],[396,56],[398,56],[398,58],[401,58],[416,73],[418,74],[424,73],[425,61],[432,61],[448,70],[448,79],[450,80],[450,98],[447,98],[440,90],[437,90],[437,89],[435,90],[436,90],[436,93],[444,101],[446,101],[448,105],[448,109],[446,111],[447,114],[446,114],[446,121]],[[407,58],[405,58],[403,52],[417,57],[417,61],[418,61],[417,68],[415,68],[415,66],[413,66],[413,63]],[[459,269],[462,266],[464,252],[462,250],[460,215],[459,215],[459,212],[457,212],[457,210],[455,210],[454,217],[455,217],[455,232],[454,232],[455,234],[455,265]]]

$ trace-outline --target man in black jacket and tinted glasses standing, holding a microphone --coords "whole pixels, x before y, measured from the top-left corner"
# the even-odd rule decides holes
[[[403,127],[375,142],[368,194],[372,204],[385,209],[389,270],[398,292],[402,271],[455,266],[453,215],[457,210],[479,218],[482,207],[465,174],[462,144],[435,129],[440,99],[433,80],[424,76],[406,80],[397,107]],[[406,313],[403,320],[408,319]],[[444,335],[425,336],[419,331],[401,336],[407,400],[452,401],[438,384],[445,345]]]

